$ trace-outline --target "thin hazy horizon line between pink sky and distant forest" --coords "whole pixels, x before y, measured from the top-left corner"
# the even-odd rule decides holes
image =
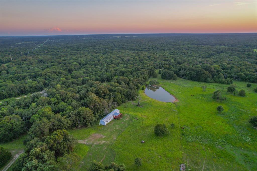
[[[252,34],[257,32],[230,32],[230,33],[108,33],[108,34],[60,34],[60,35],[23,35],[23,36],[0,36],[0,37],[28,37],[28,36],[76,36],[76,35],[120,35],[120,34]]]

